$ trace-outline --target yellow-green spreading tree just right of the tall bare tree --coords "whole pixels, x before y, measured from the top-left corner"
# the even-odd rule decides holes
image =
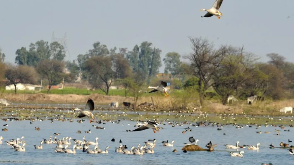
[[[251,78],[253,63],[256,61],[255,55],[244,53],[243,48],[230,48],[227,53],[212,77],[212,86],[220,95],[223,105],[245,80]]]

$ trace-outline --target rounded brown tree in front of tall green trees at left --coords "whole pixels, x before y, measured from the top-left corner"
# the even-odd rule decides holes
[[[49,88],[47,90],[47,94],[50,92],[51,86],[59,84],[65,76],[63,73],[64,63],[55,59],[41,60],[37,64],[36,68],[42,78],[48,80]]]

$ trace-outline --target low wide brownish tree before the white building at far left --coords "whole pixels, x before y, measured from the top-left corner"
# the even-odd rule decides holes
[[[5,77],[8,80],[9,84],[14,85],[15,94],[16,85],[18,83],[35,84],[37,82],[37,73],[35,68],[26,65],[9,65],[5,71]]]

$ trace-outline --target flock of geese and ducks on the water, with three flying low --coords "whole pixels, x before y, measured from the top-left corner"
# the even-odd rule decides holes
[[[153,90],[151,90],[150,92],[156,92],[156,91],[161,91],[165,94],[166,97],[168,97],[168,94],[170,93],[170,91],[168,89],[166,89],[166,82],[161,82],[161,85],[158,85],[157,87],[148,87],[148,88],[153,88]],[[95,120],[95,117],[92,113],[92,111],[94,110],[94,102],[92,99],[88,99],[86,106],[83,110],[76,108],[75,110],[78,110],[80,113],[77,116],[78,118],[82,118],[82,117],[88,117],[89,118],[89,122],[91,123],[91,118],[93,120]],[[6,120],[7,121],[7,120]],[[81,120],[83,121],[83,119]],[[53,121],[52,121],[53,122]],[[70,121],[72,122],[72,121]],[[101,122],[100,122],[101,123]],[[32,124],[32,123],[31,123]],[[104,124],[104,123],[103,123]],[[161,122],[161,124],[163,124]],[[172,127],[174,127],[174,122],[168,122],[168,124],[172,124]],[[187,124],[187,122],[184,122],[184,124]],[[220,123],[213,123],[213,122],[209,122],[208,124],[206,124],[206,122],[199,122],[196,124],[192,124],[192,126],[198,127],[198,126],[208,126],[212,124],[212,126],[214,126],[216,124],[216,126],[218,127],[217,130],[221,130],[220,127],[223,127],[223,124]],[[232,124],[232,123],[231,123]],[[141,123],[137,123],[137,125],[135,126],[139,126],[138,128],[134,129],[134,130],[127,130],[127,132],[136,132],[136,131],[143,131],[146,129],[152,129],[153,133],[159,132],[159,129],[162,129],[161,127],[157,126],[158,123],[154,122],[154,121],[150,121],[148,120],[147,122],[142,122]],[[182,124],[181,124],[182,125]],[[240,129],[243,128],[243,125],[237,125],[237,124],[233,124],[236,126],[236,128]],[[3,126],[8,126],[7,124],[4,124]],[[96,125],[93,125],[96,126]],[[246,126],[252,127],[248,124],[246,124]],[[260,127],[261,125],[258,125],[258,127]],[[266,124],[266,127],[268,126],[268,124]],[[283,126],[280,126],[282,129],[284,128]],[[101,127],[102,128],[102,127]],[[40,130],[39,127],[35,127],[35,130]],[[192,131],[192,129],[190,129],[190,127],[185,128],[186,131],[183,131],[182,133],[185,133],[187,131]],[[280,130],[275,130],[276,132],[278,132],[277,135],[279,135]],[[285,131],[290,131],[290,130],[285,130]],[[77,133],[81,133],[81,131],[77,132]],[[85,133],[91,133],[91,130],[85,131]],[[256,133],[260,133],[260,132],[256,132]],[[266,132],[265,132],[266,133]],[[268,132],[269,133],[269,132]],[[54,133],[55,136],[59,136],[60,133]],[[225,133],[224,133],[225,135]],[[2,144],[3,142],[1,141],[3,139],[2,136],[0,136],[0,144]],[[10,141],[5,141],[5,143],[9,146],[11,146],[15,151],[26,151],[25,149],[25,145],[26,142],[23,140],[24,137],[22,136],[21,138],[16,138],[16,140],[11,139]],[[43,139],[40,142],[40,145],[34,145],[35,149],[43,149],[43,144],[56,144],[56,147],[54,148],[54,151],[56,153],[68,153],[68,154],[74,154],[76,153],[76,150],[82,150],[83,152],[86,152],[88,154],[108,154],[108,149],[111,148],[109,146],[105,147],[105,150],[101,150],[98,147],[98,137],[95,138],[94,142],[85,140],[86,137],[83,136],[83,140],[78,140],[78,139],[72,139],[71,137],[63,137],[63,139],[57,139],[57,137],[54,137],[54,139],[52,140],[52,136],[50,136],[50,138],[47,139]],[[72,149],[69,148],[69,146],[72,144],[71,140],[73,140],[73,147]],[[189,137],[189,142],[190,143],[184,143],[185,146],[182,148],[183,152],[187,152],[187,151],[213,151],[213,147],[216,147],[216,144],[212,144],[212,142],[210,141],[208,144],[206,144],[206,147],[208,149],[202,149],[201,147],[199,147],[197,145],[197,142],[199,142],[198,139],[194,139],[193,137]],[[115,139],[111,139],[112,142],[115,142]],[[288,142],[292,142],[290,141],[290,139],[288,139]],[[144,153],[150,153],[153,154],[154,153],[154,148],[156,147],[156,139],[151,139],[148,140],[146,142],[144,142],[144,145],[140,145],[138,144],[137,147],[132,146],[130,150],[128,150],[128,147],[126,145],[122,145],[122,141],[120,139],[119,141],[120,145],[118,147],[115,147],[115,152],[118,153],[122,153],[122,154],[135,154],[135,155],[143,155]],[[168,143],[168,141],[162,141],[163,146],[166,147],[173,147],[173,144],[175,143],[175,141],[172,141],[171,143]],[[93,145],[93,149],[90,149],[90,146]],[[256,147],[254,145],[241,145],[239,146],[239,142],[236,142],[236,145],[230,145],[230,144],[224,144],[224,146],[227,149],[245,149],[247,148],[248,150],[258,150],[259,149],[259,145],[260,143],[256,144]],[[149,146],[149,148],[147,148]],[[283,142],[280,143],[280,146],[283,148],[289,147],[289,144],[285,144]],[[270,149],[273,149],[274,146],[273,144],[270,145]],[[294,150],[293,150],[294,146],[290,146],[290,149],[288,149],[288,152],[291,155],[294,155]],[[176,149],[173,150],[173,152],[177,152]],[[244,155],[244,150],[241,150],[240,152],[232,152],[229,151],[230,156],[235,156],[235,157],[243,157]],[[263,164],[263,165],[272,165],[271,163],[269,164]]]

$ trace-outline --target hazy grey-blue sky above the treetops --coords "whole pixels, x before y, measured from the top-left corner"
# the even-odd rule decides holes
[[[108,48],[152,42],[181,55],[191,52],[188,36],[244,45],[259,55],[280,53],[294,62],[293,0],[224,0],[223,17],[201,18],[214,0],[0,0],[0,47],[6,61],[31,42],[51,42],[67,33],[70,59],[100,41]],[[292,30],[291,30],[292,29]],[[160,68],[163,72],[164,65]]]

